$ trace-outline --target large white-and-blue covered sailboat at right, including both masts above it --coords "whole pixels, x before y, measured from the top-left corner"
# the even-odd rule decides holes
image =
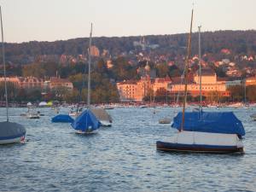
[[[185,112],[187,99],[188,66],[191,49],[191,33],[193,9],[191,15],[190,32],[188,39],[187,57],[185,63],[185,95],[183,112],[177,113],[172,127],[178,132],[168,142],[156,142],[156,148],[169,152],[196,152],[196,153],[243,153],[241,137],[245,135],[241,121],[233,112],[203,112],[202,105],[198,112]],[[199,28],[199,39],[200,31]],[[199,44],[201,44],[199,40]],[[199,45],[199,49],[200,49]],[[201,55],[201,49],[200,49]],[[201,65],[201,56],[200,56]],[[200,67],[201,69],[201,67]],[[200,70],[201,73],[201,70]],[[200,74],[201,76],[201,74]],[[201,79],[200,79],[201,84]]]

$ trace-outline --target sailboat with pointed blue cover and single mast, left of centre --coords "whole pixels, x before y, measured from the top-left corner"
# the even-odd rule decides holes
[[[96,118],[96,115],[92,113],[90,106],[90,64],[91,64],[91,36],[92,36],[92,23],[90,24],[90,41],[89,41],[89,62],[88,62],[88,91],[87,91],[87,109],[80,113],[79,116],[71,124],[74,130],[79,134],[88,134],[96,131],[102,125]]]

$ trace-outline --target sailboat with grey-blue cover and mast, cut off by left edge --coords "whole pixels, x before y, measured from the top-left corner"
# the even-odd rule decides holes
[[[3,43],[3,20],[2,9],[0,6],[1,17],[1,30],[2,30],[2,53],[3,53],[3,74],[4,74],[4,90],[5,90],[5,108],[6,108],[6,121],[0,122],[0,144],[10,143],[24,143],[26,136],[26,129],[23,125],[9,122],[9,105],[8,105],[8,92],[6,82],[6,67]]]

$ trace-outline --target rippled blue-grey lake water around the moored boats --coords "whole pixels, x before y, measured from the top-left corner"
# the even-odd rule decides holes
[[[256,108],[211,109],[236,113],[246,136],[245,154],[170,154],[155,142],[176,130],[158,120],[178,108],[114,108],[113,126],[80,136],[55,113],[26,119],[10,108],[10,120],[26,127],[26,143],[0,146],[0,191],[256,191]],[[210,109],[207,109],[210,110]],[[61,108],[61,113],[67,113]],[[5,119],[0,108],[0,121]]]

